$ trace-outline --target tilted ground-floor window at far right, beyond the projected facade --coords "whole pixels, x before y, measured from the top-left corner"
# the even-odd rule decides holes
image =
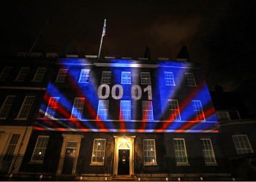
[[[233,142],[235,143],[237,154],[253,153],[252,146],[249,143],[247,135],[233,135]]]

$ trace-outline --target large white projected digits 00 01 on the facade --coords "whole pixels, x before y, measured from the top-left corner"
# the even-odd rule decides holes
[[[103,90],[105,92],[103,92]],[[118,92],[117,92],[118,90]],[[147,92],[148,93],[148,100],[152,100],[152,89],[151,89],[151,85],[148,85],[146,88],[143,89],[143,92]],[[110,86],[108,84],[101,84],[98,87],[98,97],[99,99],[107,99],[110,95]],[[112,89],[111,89],[111,96],[113,99],[121,99],[124,95],[124,89],[121,86],[121,84],[114,84]],[[142,96],[142,89],[140,87],[140,85],[135,84],[132,85],[131,88],[131,95],[132,95],[132,99],[134,100],[140,100],[141,96]]]

